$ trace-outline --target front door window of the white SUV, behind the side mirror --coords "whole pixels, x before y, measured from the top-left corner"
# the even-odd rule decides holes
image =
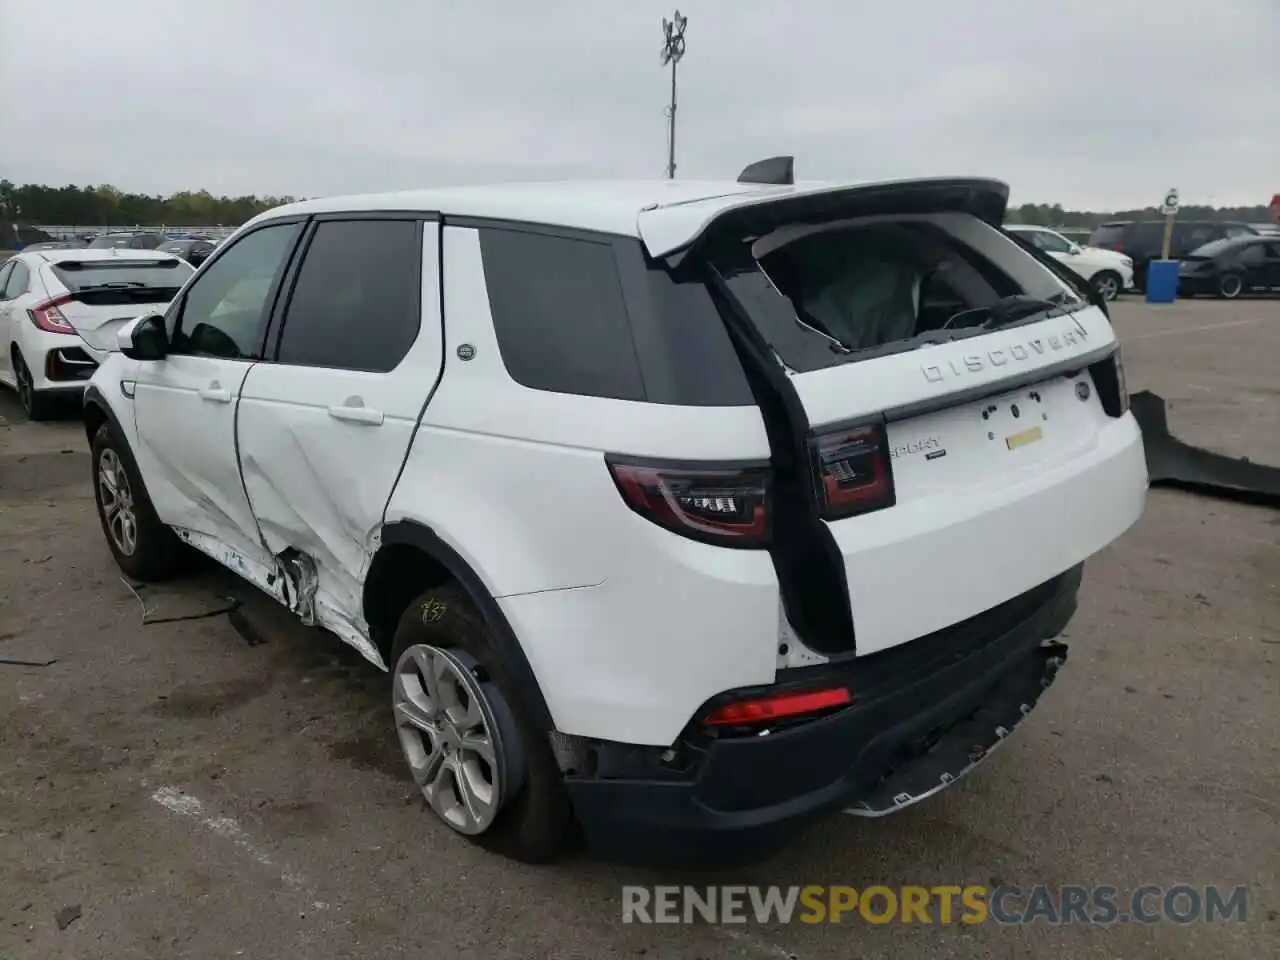
[[[169,332],[174,353],[257,357],[270,296],[298,237],[300,224],[264,227],[236,241],[191,285]]]

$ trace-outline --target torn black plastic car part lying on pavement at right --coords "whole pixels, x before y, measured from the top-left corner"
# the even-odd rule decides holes
[[[1169,433],[1165,398],[1148,390],[1129,399],[1142,428],[1152,486],[1176,486],[1212,497],[1280,507],[1280,467],[1212,453]]]

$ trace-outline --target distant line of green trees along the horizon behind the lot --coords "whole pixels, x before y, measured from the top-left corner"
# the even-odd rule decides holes
[[[125,193],[109,183],[91,187],[46,187],[38,183],[14,184],[0,179],[0,220],[24,224],[67,224],[108,227],[122,224],[180,224],[183,227],[237,227],[252,216],[294,197],[215,197],[206,189],[180,191],[164,196]],[[1009,207],[1010,223],[1041,227],[1093,228],[1105,220],[1155,220],[1156,207],[1140,210],[1065,210],[1061,204],[1023,204]],[[1179,216],[1188,220],[1270,219],[1267,207],[1184,206]]]

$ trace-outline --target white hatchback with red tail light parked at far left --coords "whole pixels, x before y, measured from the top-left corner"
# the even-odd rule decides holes
[[[83,393],[115,330],[166,305],[192,273],[178,257],[145,250],[10,257],[0,264],[0,383],[18,390],[32,420],[49,417],[59,397]]]

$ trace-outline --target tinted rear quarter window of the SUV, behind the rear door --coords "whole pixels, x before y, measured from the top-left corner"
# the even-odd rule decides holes
[[[609,242],[481,229],[480,252],[498,349],[516,383],[645,398]]]

